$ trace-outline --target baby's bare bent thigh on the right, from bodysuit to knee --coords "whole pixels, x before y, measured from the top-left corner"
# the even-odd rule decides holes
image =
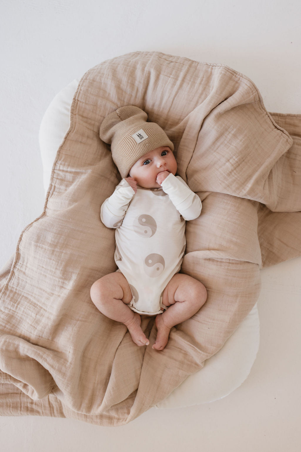
[[[189,300],[202,305],[207,299],[207,290],[204,284],[192,276],[176,273],[165,287],[162,297],[165,306]]]

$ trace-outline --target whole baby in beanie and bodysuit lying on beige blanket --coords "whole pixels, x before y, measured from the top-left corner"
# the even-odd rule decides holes
[[[148,345],[140,315],[156,315],[156,350],[171,328],[189,319],[207,298],[204,285],[178,273],[185,252],[185,220],[199,217],[201,201],[180,176],[174,146],[147,114],[128,105],[109,114],[100,137],[111,144],[123,178],[101,207],[105,226],[116,228],[118,270],[94,282],[97,309],[127,326],[135,344]]]

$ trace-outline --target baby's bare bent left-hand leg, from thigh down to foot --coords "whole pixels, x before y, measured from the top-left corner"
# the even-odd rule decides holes
[[[135,344],[149,344],[140,326],[140,315],[126,306],[132,299],[132,292],[122,273],[109,273],[97,279],[91,287],[90,295],[94,305],[102,314],[127,326]]]

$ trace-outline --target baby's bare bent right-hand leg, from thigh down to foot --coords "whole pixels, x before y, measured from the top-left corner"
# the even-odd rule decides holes
[[[153,348],[163,350],[171,328],[190,319],[206,299],[207,291],[201,282],[191,276],[176,273],[163,291],[162,302],[169,307],[156,317],[158,333]]]

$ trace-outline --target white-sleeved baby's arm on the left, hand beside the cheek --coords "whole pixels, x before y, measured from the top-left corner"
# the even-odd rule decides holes
[[[117,228],[121,225],[134,194],[134,188],[130,186],[129,182],[122,179],[110,198],[102,203],[100,218],[105,226]]]

